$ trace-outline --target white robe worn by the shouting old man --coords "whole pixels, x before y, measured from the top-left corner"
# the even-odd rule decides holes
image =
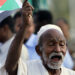
[[[0,69],[0,75],[8,75],[6,70]],[[28,61],[26,64],[20,59],[18,62],[17,75],[49,75],[41,61]],[[61,67],[60,75],[75,75],[75,72],[67,68]]]

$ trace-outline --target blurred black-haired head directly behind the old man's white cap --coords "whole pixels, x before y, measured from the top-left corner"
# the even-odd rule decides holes
[[[47,10],[39,10],[33,14],[35,23],[35,33],[38,32],[41,26],[53,23],[53,16],[51,12]]]

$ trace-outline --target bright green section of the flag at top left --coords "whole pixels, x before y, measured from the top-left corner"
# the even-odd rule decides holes
[[[13,10],[19,8],[15,0],[7,0],[0,10]]]

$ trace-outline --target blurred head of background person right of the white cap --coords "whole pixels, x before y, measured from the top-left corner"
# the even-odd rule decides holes
[[[59,18],[56,20],[55,23],[62,29],[64,36],[66,37],[66,40],[68,42],[68,40],[70,39],[70,33],[69,33],[70,26],[67,20],[64,18]]]

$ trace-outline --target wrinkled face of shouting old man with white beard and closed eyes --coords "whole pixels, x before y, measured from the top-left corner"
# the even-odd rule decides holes
[[[59,31],[48,30],[42,36],[41,58],[50,69],[59,69],[66,53],[66,41]]]

